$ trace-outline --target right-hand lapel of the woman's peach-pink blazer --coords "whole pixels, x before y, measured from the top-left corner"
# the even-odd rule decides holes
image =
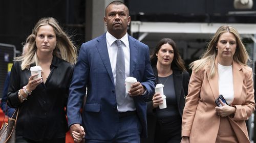
[[[232,64],[232,72],[233,72],[233,88],[234,88],[234,100],[235,100],[235,99],[238,99],[242,93],[243,84],[241,83],[243,83],[243,80],[244,80],[244,73],[242,71],[242,67],[236,62],[233,62]]]

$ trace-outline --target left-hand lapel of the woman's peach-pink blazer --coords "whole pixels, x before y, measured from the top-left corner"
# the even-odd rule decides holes
[[[217,58],[215,60],[215,65],[216,67],[216,73],[215,73],[215,76],[210,78],[210,68],[208,67],[207,69],[207,78],[208,78],[208,81],[209,81],[209,84],[210,84],[210,88],[211,88],[211,91],[212,91],[212,94],[214,95],[215,99],[217,99],[219,97],[219,80],[218,80],[218,61],[217,61]]]

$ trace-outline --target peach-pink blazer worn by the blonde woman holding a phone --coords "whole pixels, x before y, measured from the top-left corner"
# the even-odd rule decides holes
[[[218,71],[218,62],[215,66]],[[239,142],[250,142],[245,120],[254,111],[254,89],[252,69],[232,63],[234,99],[237,110],[233,118],[227,117]],[[214,143],[217,138],[220,116],[217,116],[215,100],[219,96],[218,72],[209,78],[209,68],[192,72],[188,95],[182,117],[182,136],[189,136],[190,143]]]

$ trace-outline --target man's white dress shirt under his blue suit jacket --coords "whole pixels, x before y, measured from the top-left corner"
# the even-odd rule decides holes
[[[106,32],[106,46],[108,47],[110,64],[111,64],[111,69],[112,69],[115,83],[116,83],[116,56],[117,56],[117,45],[115,44],[116,40],[117,39],[114,36],[112,36],[109,32]],[[122,48],[124,53],[125,78],[126,78],[130,76],[130,47],[129,47],[128,34],[126,33],[119,40],[122,41],[121,43],[122,43]],[[134,100],[130,96],[126,96],[125,102],[121,106],[117,105],[117,110],[118,112],[136,110]]]

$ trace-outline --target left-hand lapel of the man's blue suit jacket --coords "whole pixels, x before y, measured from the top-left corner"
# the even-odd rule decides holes
[[[96,44],[96,48],[99,52],[100,58],[106,68],[106,71],[108,71],[109,73],[109,76],[111,78],[113,85],[115,85],[111,64],[110,64],[108,47],[106,46],[106,35],[103,34],[101,37],[99,37],[99,39],[97,39],[97,41],[98,41],[98,44]]]

